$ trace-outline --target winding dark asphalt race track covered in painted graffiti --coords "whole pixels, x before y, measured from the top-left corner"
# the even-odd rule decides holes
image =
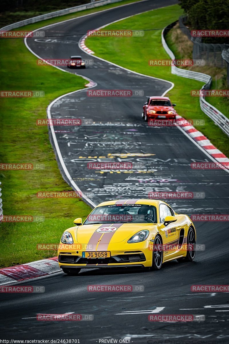
[[[57,42],[56,37],[52,37],[54,42],[29,39],[27,44],[35,54],[43,58],[67,58],[70,55],[93,58],[93,66],[80,71],[70,70],[97,83],[92,90],[140,89],[144,90],[145,95],[159,96],[171,86],[170,83],[130,73],[85,54],[78,47],[80,36],[77,34],[173,3],[176,1],[143,1],[141,4],[125,6],[125,11],[119,7],[76,18],[45,29],[46,35],[66,34]],[[76,36],[69,38],[69,34]],[[66,43],[67,41],[70,43]],[[67,70],[67,67],[62,69]],[[192,162],[211,161],[210,158],[178,128],[149,127],[142,121],[141,109],[144,101],[145,96],[88,97],[85,89],[54,103],[51,107],[52,118],[92,118],[95,122],[93,125],[79,127],[55,127],[59,148],[72,179],[84,193],[91,193],[90,198],[95,204],[109,199],[148,198],[150,191],[196,191],[204,192],[205,198],[168,200],[168,203],[176,212],[188,215],[227,214],[228,173],[223,170],[192,170]],[[172,99],[172,102],[179,103],[179,99]],[[109,158],[111,156],[113,158]],[[133,170],[133,173],[100,173],[87,169],[88,162],[107,159],[141,162],[144,163],[144,168]],[[80,214],[76,214],[77,216]],[[229,343],[228,293],[191,292],[193,284],[228,284],[228,224],[194,224],[197,243],[204,244],[205,251],[197,252],[192,263],[172,261],[156,272],[84,269],[76,277],[65,276],[60,272],[23,283],[45,286],[45,293],[0,295],[3,317],[1,331],[4,331],[1,338],[72,338],[79,339],[82,344],[102,343],[101,340],[112,338],[118,342],[122,339],[127,343],[149,344],[164,341],[169,344],[180,344],[182,341],[201,344],[204,341],[208,344],[213,344],[213,341],[218,344]],[[143,285],[145,290],[90,293],[87,291],[89,284],[137,284]],[[94,320],[36,320],[37,313],[67,312],[93,314]],[[183,324],[149,322],[148,315],[153,312],[204,314],[206,319],[203,322]]]

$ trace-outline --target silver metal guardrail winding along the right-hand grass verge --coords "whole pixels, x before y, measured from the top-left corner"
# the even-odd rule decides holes
[[[170,56],[172,60],[175,59],[175,55],[173,52],[169,49],[167,43],[165,42],[165,32],[168,32],[172,26],[175,25],[176,22],[169,24],[166,26],[161,33],[161,42],[163,45],[164,50],[167,52],[167,54]],[[165,31],[166,30],[166,31]],[[198,81],[205,82],[204,86],[201,88],[203,89],[210,89],[211,86],[211,76],[204,74],[204,73],[199,73],[199,72],[193,72],[193,71],[188,71],[186,69],[178,68],[176,66],[171,66],[171,73],[182,76],[184,78],[188,79],[195,79]],[[199,97],[199,103],[201,110],[208,116],[210,117],[214,123],[223,131],[227,136],[229,136],[229,119],[222,114],[217,108],[215,108],[213,105],[209,104],[203,96]]]

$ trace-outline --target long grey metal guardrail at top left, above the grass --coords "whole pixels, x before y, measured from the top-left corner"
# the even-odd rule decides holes
[[[66,8],[64,10],[50,12],[50,13],[38,15],[37,17],[21,20],[19,22],[16,22],[16,23],[4,26],[0,30],[12,30],[12,29],[20,28],[21,26],[25,26],[25,25],[28,25],[28,24],[36,23],[38,21],[42,21],[42,20],[45,20],[45,19],[55,18],[55,17],[59,17],[60,15],[74,13],[74,12],[79,12],[79,11],[82,11],[82,10],[88,10],[90,8],[95,8],[95,7],[106,5],[106,4],[109,4],[109,3],[120,2],[120,1],[124,1],[124,0],[99,0],[99,1],[95,1],[95,2],[90,2],[90,3],[83,4],[83,5]]]

